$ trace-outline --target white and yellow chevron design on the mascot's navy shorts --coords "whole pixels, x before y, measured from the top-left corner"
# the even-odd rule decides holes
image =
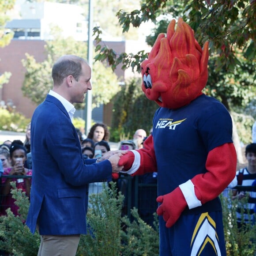
[[[218,235],[216,233],[216,223],[208,212],[205,212],[200,215],[192,235],[190,245],[192,246],[191,255],[199,256],[208,243],[211,244],[216,255],[221,255],[218,245]]]

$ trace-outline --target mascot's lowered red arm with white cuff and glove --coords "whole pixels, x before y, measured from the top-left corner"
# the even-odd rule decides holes
[[[169,228],[180,217],[182,211],[215,199],[236,175],[237,155],[233,143],[226,143],[211,150],[207,156],[206,173],[198,174],[181,184],[169,194],[158,196],[162,203],[157,214],[163,215]]]

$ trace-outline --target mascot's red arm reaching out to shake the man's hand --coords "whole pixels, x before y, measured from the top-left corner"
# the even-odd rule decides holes
[[[131,175],[141,175],[155,172],[157,170],[153,136],[149,136],[143,143],[140,150],[131,150],[120,157],[119,166]]]

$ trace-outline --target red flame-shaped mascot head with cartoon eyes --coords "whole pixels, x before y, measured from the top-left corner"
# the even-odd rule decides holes
[[[141,63],[142,90],[161,107],[177,109],[197,98],[208,79],[208,42],[203,50],[192,28],[179,18],[176,31],[173,19],[167,36],[161,33]]]

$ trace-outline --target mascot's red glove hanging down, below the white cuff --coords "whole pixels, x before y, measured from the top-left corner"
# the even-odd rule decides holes
[[[167,228],[173,226],[177,219],[180,218],[181,213],[187,207],[187,202],[180,187],[175,188],[169,194],[158,196],[156,200],[158,203],[162,203],[156,212],[158,215],[163,215]]]

